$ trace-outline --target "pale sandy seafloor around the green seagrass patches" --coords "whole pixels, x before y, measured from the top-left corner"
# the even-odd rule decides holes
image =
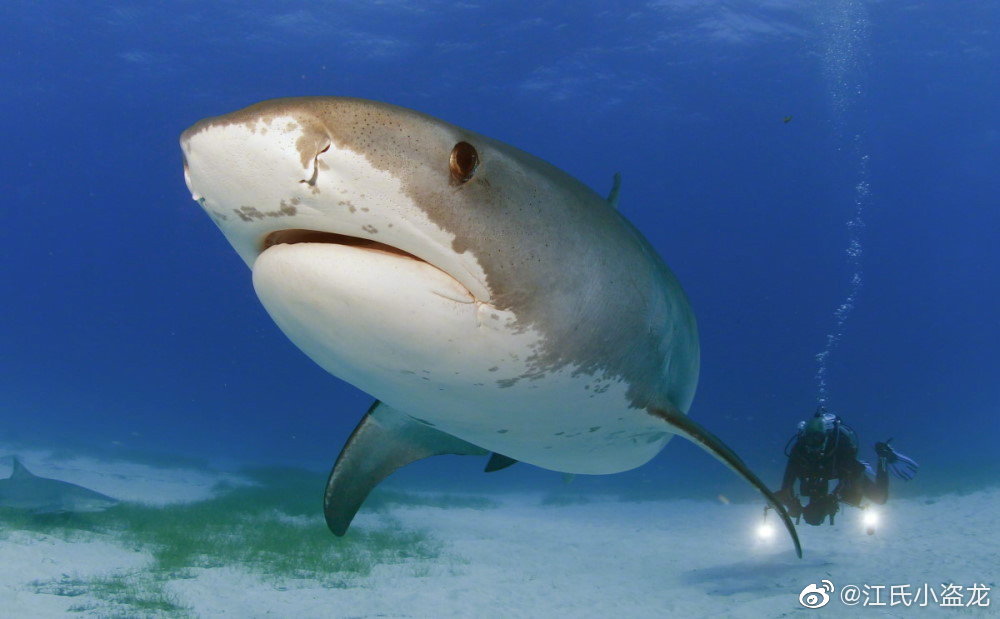
[[[4,451],[4,453],[9,453]],[[232,473],[161,468],[21,450],[38,475],[78,483],[128,501],[176,505],[211,496]],[[0,464],[0,477],[9,459]],[[317,493],[321,489],[317,488]],[[804,558],[783,531],[756,537],[760,504],[715,501],[621,502],[593,497],[552,505],[541,494],[489,497],[494,506],[399,505],[362,511],[354,527],[390,518],[440,544],[433,558],[377,565],[347,587],[309,579],[275,580],[240,565],[196,568],[165,590],[186,610],[139,611],[53,592],[39,583],[141,573],[151,556],[112,535],[80,539],[0,530],[0,616],[198,617],[780,617],[1000,615],[1000,488],[917,497],[882,508],[875,535],[857,510],[835,527],[801,527]],[[320,515],[317,513],[317,519]],[[799,604],[809,583],[943,583],[991,588],[991,605],[924,608],[848,607],[836,597],[822,610]],[[834,594],[837,595],[836,592]],[[965,599],[968,599],[965,592]],[[83,610],[81,610],[83,609]]]

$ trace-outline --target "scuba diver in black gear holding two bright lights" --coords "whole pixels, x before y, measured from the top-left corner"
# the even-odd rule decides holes
[[[878,466],[873,480],[871,466],[858,459],[857,434],[840,417],[820,406],[811,419],[799,422],[798,432],[785,445],[788,465],[776,495],[788,508],[789,516],[796,522],[803,517],[811,525],[823,524],[827,516],[833,524],[841,501],[854,507],[859,507],[863,498],[885,503],[889,497],[889,471],[909,481],[918,468],[916,462],[893,449],[891,442],[890,438],[875,443]],[[837,485],[830,492],[833,479]],[[794,489],[796,480],[798,494]],[[809,499],[805,507],[800,496]]]

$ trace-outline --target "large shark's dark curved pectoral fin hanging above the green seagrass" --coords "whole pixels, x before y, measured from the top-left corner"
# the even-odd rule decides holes
[[[487,453],[376,400],[330,471],[323,495],[326,524],[334,535],[346,533],[368,493],[393,471],[411,462],[441,454]]]

